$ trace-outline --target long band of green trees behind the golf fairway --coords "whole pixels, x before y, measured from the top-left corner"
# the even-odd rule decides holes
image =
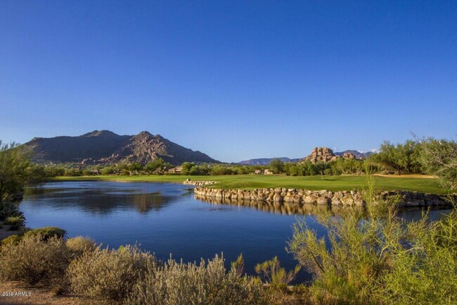
[[[247,175],[258,170],[269,169],[277,175],[311,176],[311,175],[363,175],[369,173],[384,174],[430,174],[446,178],[446,183],[455,186],[456,165],[452,160],[457,155],[457,144],[453,140],[422,138],[408,139],[404,143],[393,144],[385,141],[380,145],[377,153],[366,160],[337,158],[329,162],[311,163],[284,163],[273,159],[267,166],[249,166],[233,163],[198,164],[184,162],[180,170],[169,171],[175,166],[165,162],[162,158],[155,158],[146,164],[117,163],[115,165],[82,166],[67,165],[39,165],[30,162],[30,151],[24,151],[17,144],[4,144],[2,151],[11,150],[4,154],[6,158],[19,158],[28,156],[27,161],[21,161],[21,166],[27,168],[20,180],[46,180],[57,176],[82,176],[82,175]],[[14,151],[14,153],[13,153]],[[437,170],[439,168],[439,170]],[[9,170],[9,169],[7,169]],[[6,171],[4,173],[6,173]],[[0,173],[1,175],[1,173]],[[19,178],[18,178],[19,179]],[[0,181],[1,187],[4,187]]]

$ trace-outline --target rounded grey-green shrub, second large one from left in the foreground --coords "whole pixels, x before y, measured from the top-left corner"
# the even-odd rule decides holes
[[[121,303],[154,263],[154,256],[137,247],[117,250],[98,247],[72,261],[67,276],[76,294],[110,304]]]

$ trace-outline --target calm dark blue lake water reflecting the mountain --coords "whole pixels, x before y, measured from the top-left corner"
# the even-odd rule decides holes
[[[160,259],[199,261],[224,253],[226,262],[243,253],[245,271],[278,256],[286,268],[296,261],[285,251],[292,224],[304,218],[318,235],[312,216],[269,213],[256,208],[208,204],[186,185],[122,182],[51,182],[26,189],[20,204],[30,228],[57,226],[68,237],[89,236],[109,247],[140,244]],[[446,211],[432,211],[437,219]],[[419,218],[420,211],[406,211]],[[297,280],[307,280],[303,271]]]

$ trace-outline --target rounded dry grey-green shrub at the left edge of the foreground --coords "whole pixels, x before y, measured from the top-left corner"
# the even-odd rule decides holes
[[[70,259],[62,239],[44,242],[38,236],[22,237],[18,244],[9,242],[0,250],[0,278],[29,285],[49,285],[65,275]]]

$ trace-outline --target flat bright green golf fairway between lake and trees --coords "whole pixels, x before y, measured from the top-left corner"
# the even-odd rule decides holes
[[[118,176],[99,175],[83,177],[57,177],[56,180],[108,180],[124,182],[184,182],[191,180],[210,180],[218,182],[214,187],[225,189],[255,189],[260,187],[287,187],[296,189],[328,189],[331,191],[356,190],[366,188],[365,175],[340,175],[290,177],[282,175],[224,175],[224,176],[181,176],[181,175],[140,175]],[[440,194],[445,190],[435,178],[378,177],[375,187],[382,190],[408,190]]]

